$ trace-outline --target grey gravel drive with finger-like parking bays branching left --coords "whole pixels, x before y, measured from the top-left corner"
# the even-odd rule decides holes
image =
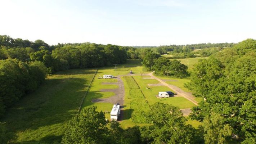
[[[123,81],[121,80],[120,76],[117,76],[117,82],[103,82],[102,84],[105,85],[118,85],[117,89],[101,89],[100,91],[105,92],[113,92],[116,95],[111,96],[109,98],[104,99],[93,99],[91,102],[94,103],[112,103],[116,104],[119,103],[120,105],[124,104],[124,96],[125,96],[125,88],[123,86]]]

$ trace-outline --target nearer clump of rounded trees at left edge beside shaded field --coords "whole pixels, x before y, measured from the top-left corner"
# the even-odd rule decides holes
[[[17,59],[0,60],[0,116],[21,96],[35,90],[46,78],[42,62],[30,65]]]

